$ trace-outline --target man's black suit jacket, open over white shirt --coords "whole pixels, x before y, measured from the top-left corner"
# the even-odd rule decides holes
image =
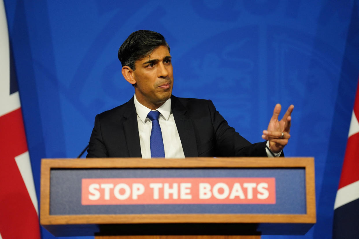
[[[216,111],[211,100],[171,96],[185,157],[267,157],[266,142],[251,144]],[[134,98],[95,117],[87,157],[141,157]]]

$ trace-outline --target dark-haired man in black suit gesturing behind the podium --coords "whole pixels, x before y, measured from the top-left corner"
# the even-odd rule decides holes
[[[262,135],[268,141],[251,144],[227,124],[212,101],[172,95],[169,52],[164,37],[148,30],[136,31],[123,42],[118,58],[135,95],[95,117],[87,157],[283,156],[293,105],[279,121],[277,104]]]

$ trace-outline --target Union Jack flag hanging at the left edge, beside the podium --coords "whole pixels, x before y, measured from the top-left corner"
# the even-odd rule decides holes
[[[11,67],[8,26],[0,0],[0,239],[39,239],[37,198]]]

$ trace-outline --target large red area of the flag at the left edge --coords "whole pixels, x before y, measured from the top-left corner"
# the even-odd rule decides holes
[[[15,157],[27,151],[21,109],[0,117],[0,233],[3,239],[40,238],[38,216]]]

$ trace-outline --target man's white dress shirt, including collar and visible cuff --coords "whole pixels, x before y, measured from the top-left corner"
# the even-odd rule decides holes
[[[137,124],[140,135],[140,145],[142,158],[151,158],[150,137],[152,122],[147,118],[151,109],[141,105],[134,96],[135,108],[137,112]],[[176,122],[174,121],[173,113],[171,111],[171,98],[169,98],[163,105],[156,109],[161,113],[158,118],[159,125],[161,126],[164,155],[165,158],[185,158],[183,153],[180,134],[178,134]],[[152,111],[156,111],[152,110]],[[267,141],[269,147],[269,141]],[[270,150],[266,148],[267,156],[273,157]],[[281,152],[273,153],[275,157],[279,157]]]

